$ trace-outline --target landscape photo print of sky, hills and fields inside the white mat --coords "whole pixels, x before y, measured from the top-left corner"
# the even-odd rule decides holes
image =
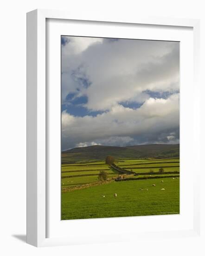
[[[61,219],[179,214],[179,42],[60,47]]]

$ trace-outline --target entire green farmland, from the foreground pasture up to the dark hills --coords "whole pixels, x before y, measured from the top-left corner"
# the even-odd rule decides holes
[[[121,159],[115,165],[133,174],[116,182],[122,173],[104,161],[62,164],[62,220],[179,214],[179,158]],[[101,170],[110,183],[99,181]]]

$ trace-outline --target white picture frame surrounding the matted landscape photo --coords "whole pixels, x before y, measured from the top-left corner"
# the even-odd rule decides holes
[[[115,23],[125,24],[144,24],[156,26],[175,26],[192,27],[193,29],[193,74],[194,74],[194,132],[195,145],[200,144],[200,123],[199,123],[199,20],[189,19],[169,19],[158,17],[136,17],[135,20],[113,20],[110,17],[72,17],[70,13],[54,10],[34,10],[27,13],[27,243],[37,247],[70,245],[80,243],[98,243],[100,240],[94,235],[87,239],[77,239],[77,237],[52,236],[47,237],[46,225],[48,223],[46,211],[48,210],[46,202],[47,180],[47,110],[46,110],[46,19],[58,20],[81,20],[106,22],[109,26]],[[196,157],[200,155],[200,147],[196,147]],[[193,229],[181,229],[156,232],[156,236],[162,237],[184,237],[199,236],[200,233],[200,201],[199,201],[199,170],[193,181]],[[95,223],[98,220],[95,220]],[[82,222],[83,223],[83,222]],[[79,223],[78,223],[79,224]],[[108,237],[103,242],[121,241],[122,234],[118,234],[113,239]],[[139,234],[138,234],[139,235]],[[136,235],[136,237],[139,237]],[[153,233],[147,231],[142,233],[141,238],[153,236]]]

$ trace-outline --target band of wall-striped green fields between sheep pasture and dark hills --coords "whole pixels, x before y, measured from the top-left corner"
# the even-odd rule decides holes
[[[116,161],[116,164],[121,168],[134,171],[135,173],[158,173],[160,167],[163,167],[165,172],[179,171],[179,159],[123,159],[119,162]],[[167,164],[170,167],[164,167]],[[96,182],[98,181],[98,174],[101,170],[105,170],[109,178],[119,174],[118,171],[110,168],[104,161],[83,164],[62,164],[61,184],[62,186],[73,186],[75,184]]]

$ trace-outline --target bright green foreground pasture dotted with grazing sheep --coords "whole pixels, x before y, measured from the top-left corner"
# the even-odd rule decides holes
[[[62,220],[179,213],[179,179],[160,181],[111,182],[62,193]]]

